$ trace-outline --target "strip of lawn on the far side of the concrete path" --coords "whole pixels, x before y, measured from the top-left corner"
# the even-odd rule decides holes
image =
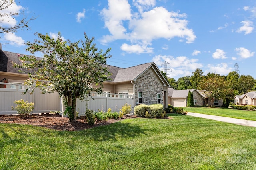
[[[184,111],[256,121],[256,111],[207,107],[184,107]]]

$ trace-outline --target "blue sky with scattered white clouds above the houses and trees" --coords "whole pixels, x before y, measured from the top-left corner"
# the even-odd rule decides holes
[[[2,33],[2,50],[28,54],[24,45],[35,32],[72,42],[95,37],[98,49],[112,48],[107,64],[127,68],[154,61],[167,65],[170,77],[227,75],[238,64],[240,75],[256,79],[256,2],[202,0],[20,0],[30,30]],[[14,24],[21,16],[8,23]],[[38,56],[40,57],[40,56]]]

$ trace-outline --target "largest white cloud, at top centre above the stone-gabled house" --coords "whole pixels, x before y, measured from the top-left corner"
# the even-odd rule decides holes
[[[102,44],[125,39],[131,45],[148,46],[152,40],[160,38],[170,40],[179,37],[186,39],[186,43],[192,43],[196,39],[193,30],[187,28],[188,21],[184,19],[186,14],[169,12],[164,7],[144,11],[145,6],[152,8],[155,5],[154,0],[138,0],[134,4],[137,8],[143,6],[143,9],[140,8],[139,13],[134,12],[128,0],[109,0],[108,9],[104,8],[101,15],[110,34],[102,37]]]

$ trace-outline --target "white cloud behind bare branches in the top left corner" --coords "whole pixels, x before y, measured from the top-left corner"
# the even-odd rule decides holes
[[[6,7],[7,4],[10,4],[10,3],[4,3],[1,9]],[[4,15],[4,16],[1,15],[0,24],[8,27],[15,26],[17,24],[17,20],[14,18],[14,16],[11,16],[9,14],[15,14],[15,13],[19,14],[21,10],[24,10],[24,8],[20,5],[17,5],[16,2],[13,2],[11,6],[8,6],[6,9],[1,10],[2,14],[8,14],[8,15]],[[18,17],[18,15],[15,15],[15,17],[16,16]]]

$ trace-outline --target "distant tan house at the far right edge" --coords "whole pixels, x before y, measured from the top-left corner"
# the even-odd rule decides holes
[[[236,95],[234,99],[238,105],[255,105],[256,106],[256,91],[251,91],[246,94]]]

